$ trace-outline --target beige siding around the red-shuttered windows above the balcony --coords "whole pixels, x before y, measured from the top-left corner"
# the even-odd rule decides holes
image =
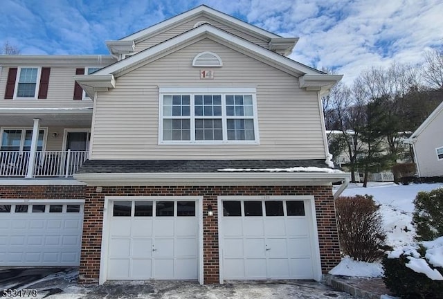
[[[75,69],[73,66],[51,66],[46,99],[7,100],[5,89],[9,68],[1,68],[0,108],[92,107],[91,100],[73,100]]]

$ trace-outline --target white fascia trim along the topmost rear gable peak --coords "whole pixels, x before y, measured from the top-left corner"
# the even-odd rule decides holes
[[[163,30],[163,29],[167,28],[168,26],[172,26],[172,25],[179,23],[181,21],[184,21],[186,19],[190,19],[190,18],[194,17],[195,15],[198,15],[201,13],[206,13],[208,15],[215,16],[221,22],[232,23],[235,26],[244,28],[248,31],[252,31],[253,33],[255,33],[257,35],[262,35],[263,37],[266,37],[269,39],[275,38],[275,37],[280,37],[280,35],[276,35],[274,33],[266,31],[262,28],[258,28],[257,26],[253,26],[251,24],[248,24],[245,21],[242,21],[240,19],[236,19],[235,17],[231,17],[230,15],[226,15],[223,12],[219,12],[218,10],[214,10],[213,8],[209,8],[208,6],[198,6],[197,8],[194,8],[192,10],[188,10],[187,12],[183,12],[182,14],[172,17],[170,19],[167,19],[165,21],[161,21],[158,24],[155,24],[155,25],[150,26],[146,29],[138,31],[137,33],[134,33],[132,35],[128,35],[127,37],[123,37],[123,39],[120,39],[120,40],[121,41],[129,41],[129,40],[134,41],[136,39],[145,39],[145,37],[147,37],[147,35],[151,35],[152,33],[156,33],[159,30]]]

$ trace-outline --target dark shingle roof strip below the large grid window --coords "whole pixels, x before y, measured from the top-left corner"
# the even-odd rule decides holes
[[[219,172],[226,168],[250,168],[259,172],[259,169],[289,167],[326,168],[327,165],[324,160],[88,160],[78,174]]]

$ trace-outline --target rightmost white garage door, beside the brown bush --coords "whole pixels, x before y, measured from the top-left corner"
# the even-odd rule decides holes
[[[223,278],[314,278],[309,201],[224,200]]]

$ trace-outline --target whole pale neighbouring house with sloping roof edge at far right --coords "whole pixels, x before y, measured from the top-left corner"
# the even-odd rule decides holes
[[[406,143],[413,145],[418,176],[443,176],[443,102]]]

